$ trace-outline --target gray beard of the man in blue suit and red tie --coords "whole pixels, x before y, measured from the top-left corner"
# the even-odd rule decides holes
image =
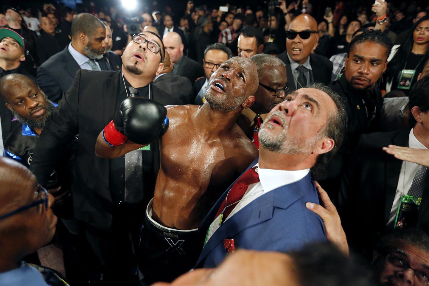
[[[269,120],[276,115],[281,118],[283,123],[283,130],[280,135],[272,135],[268,129],[273,129],[274,126],[268,124]],[[261,125],[258,138],[260,145],[263,148],[280,154],[309,154],[314,148],[314,144],[320,139],[319,134],[313,138],[308,138],[305,141],[296,140],[290,138],[287,135],[288,129],[287,117],[282,111],[275,111],[269,117],[265,119],[265,122]]]

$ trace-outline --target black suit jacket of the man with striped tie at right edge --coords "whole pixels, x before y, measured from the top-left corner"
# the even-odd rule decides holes
[[[372,246],[386,230],[402,161],[381,148],[406,146],[410,129],[363,134],[343,177],[338,211],[350,247],[372,258]],[[429,179],[423,191],[418,228],[429,231]]]

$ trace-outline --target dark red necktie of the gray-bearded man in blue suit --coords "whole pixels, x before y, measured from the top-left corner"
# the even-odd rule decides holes
[[[222,221],[225,221],[228,215],[231,213],[231,211],[233,211],[234,207],[237,205],[234,203],[239,202],[243,198],[249,185],[259,182],[259,175],[255,171],[255,169],[256,167],[248,169],[247,172],[245,172],[236,181],[236,183],[233,185],[233,187],[231,187],[230,192],[222,202],[221,207],[219,208],[218,213],[216,214],[215,217],[218,217],[221,214],[221,212],[225,210],[224,216],[222,217]],[[225,209],[226,204],[227,206],[231,204],[234,204],[234,205],[231,205],[230,207]]]

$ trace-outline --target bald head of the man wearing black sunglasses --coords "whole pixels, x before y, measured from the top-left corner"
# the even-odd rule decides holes
[[[290,32],[313,31],[307,35],[300,36],[299,34],[292,35]],[[289,30],[287,31],[286,49],[290,58],[300,65],[304,64],[311,54],[311,51],[317,47],[319,42],[319,34],[317,33],[317,22],[313,17],[306,14],[301,14],[290,22]],[[295,36],[293,38],[293,36]],[[290,39],[293,38],[293,39]]]

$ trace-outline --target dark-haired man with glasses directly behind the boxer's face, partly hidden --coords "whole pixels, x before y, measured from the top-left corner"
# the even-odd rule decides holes
[[[222,43],[208,45],[204,51],[204,59],[202,66],[204,67],[205,77],[199,78],[193,84],[193,94],[195,96],[194,103],[202,105],[205,102],[204,92],[205,87],[210,80],[211,75],[215,72],[222,63],[233,56],[230,48]]]

